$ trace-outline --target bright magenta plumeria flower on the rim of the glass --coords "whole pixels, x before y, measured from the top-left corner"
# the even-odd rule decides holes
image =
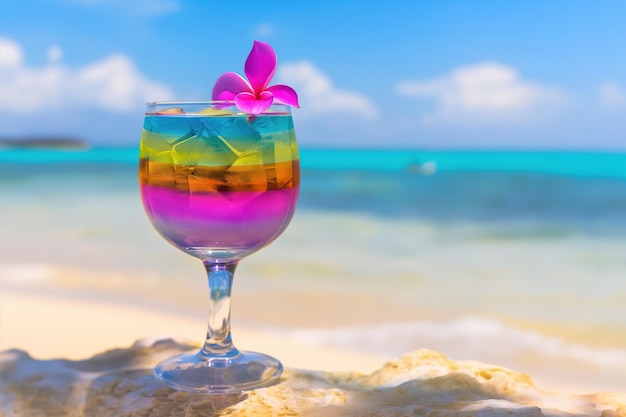
[[[293,88],[269,86],[276,72],[276,53],[268,43],[254,41],[244,70],[249,82],[235,72],[221,75],[213,87],[213,100],[234,100],[240,110],[250,114],[263,113],[272,103],[300,107]]]

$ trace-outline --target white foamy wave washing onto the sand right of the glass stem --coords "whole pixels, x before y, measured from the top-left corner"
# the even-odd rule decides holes
[[[495,320],[463,317],[451,321],[413,321],[336,328],[290,329],[294,340],[347,348],[394,358],[416,349],[433,349],[456,360],[507,361],[520,356],[544,361],[626,371],[626,349],[597,348],[507,326]]]

